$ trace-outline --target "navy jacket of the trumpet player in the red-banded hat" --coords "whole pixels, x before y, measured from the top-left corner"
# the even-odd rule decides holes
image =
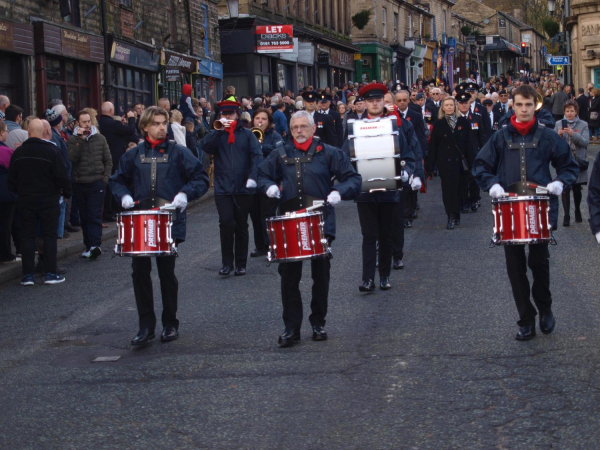
[[[258,166],[262,161],[262,151],[256,136],[243,122],[238,120],[233,132],[235,143],[228,144],[229,134],[211,130],[202,139],[200,147],[215,158],[215,195],[249,195],[255,189],[246,188],[246,182],[258,181]]]

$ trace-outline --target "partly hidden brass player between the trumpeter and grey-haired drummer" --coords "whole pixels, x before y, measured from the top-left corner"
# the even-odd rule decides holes
[[[271,110],[261,108],[254,112],[254,127],[260,128],[263,132],[263,141],[259,142],[263,157],[266,158],[275,150],[278,142],[283,142],[283,138],[275,131],[273,127],[273,116]],[[254,194],[250,218],[252,219],[252,228],[254,230],[254,251],[250,253],[252,258],[265,256],[269,247],[269,235],[267,233],[267,224],[265,219],[272,217],[277,211],[279,201],[265,196],[262,192]]]

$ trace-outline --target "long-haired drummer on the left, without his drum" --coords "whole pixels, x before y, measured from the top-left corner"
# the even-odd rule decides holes
[[[209,180],[202,164],[187,147],[167,140],[168,125],[169,113],[163,108],[152,106],[144,111],[139,122],[144,140],[121,157],[109,185],[124,209],[131,209],[138,202],[140,210],[172,203],[179,210],[173,213],[175,220],[171,230],[175,244],[179,245],[185,240],[187,203],[206,193]],[[156,258],[163,303],[162,342],[179,336],[175,259],[176,255]],[[134,257],[131,267],[139,317],[139,331],[131,344],[139,346],[154,339],[156,327],[150,257]]]

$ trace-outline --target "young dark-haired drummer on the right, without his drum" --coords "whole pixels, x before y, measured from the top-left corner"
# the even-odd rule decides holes
[[[536,195],[532,188],[523,186],[521,180],[520,150],[509,149],[508,141],[525,143],[526,181],[547,187],[550,193],[550,223],[552,230],[558,225],[558,197],[577,179],[578,166],[571,156],[569,146],[558,134],[538,122],[535,113],[536,91],[528,84],[513,90],[515,115],[508,125],[493,134],[473,163],[473,175],[481,189],[492,198],[501,198],[505,192]],[[535,146],[535,147],[534,147]],[[553,180],[549,165],[556,169]],[[518,341],[533,339],[536,335],[535,316],[540,314],[540,330],[549,334],[556,324],[552,313],[550,293],[550,253],[548,243],[530,244],[529,256],[525,245],[505,245],[506,269],[513,296],[519,312]],[[533,274],[533,289],[527,278],[527,266]],[[535,307],[531,303],[533,296]],[[537,308],[537,311],[536,311]]]

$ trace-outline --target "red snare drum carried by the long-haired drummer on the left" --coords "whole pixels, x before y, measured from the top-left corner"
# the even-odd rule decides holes
[[[117,216],[119,256],[169,256],[176,253],[170,211],[127,211]]]

